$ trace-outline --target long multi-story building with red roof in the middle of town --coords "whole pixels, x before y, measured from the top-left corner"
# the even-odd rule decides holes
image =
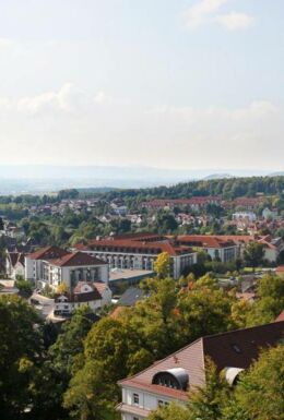
[[[168,238],[152,233],[126,235],[95,239],[86,245],[76,245],[82,252],[108,263],[110,268],[153,271],[158,254],[167,252],[171,260],[171,275],[179,278],[182,271],[197,263],[197,252]]]

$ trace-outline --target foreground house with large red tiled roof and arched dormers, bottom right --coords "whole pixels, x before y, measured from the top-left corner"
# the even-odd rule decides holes
[[[118,410],[122,420],[146,419],[151,410],[171,401],[186,404],[190,392],[205,383],[206,358],[234,385],[238,374],[258,358],[260,349],[276,346],[283,334],[281,321],[201,337],[134,376],[119,381],[122,403]]]

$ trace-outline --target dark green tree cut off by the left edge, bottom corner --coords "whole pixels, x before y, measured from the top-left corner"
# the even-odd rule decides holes
[[[40,321],[24,300],[0,297],[0,418],[14,420],[31,404],[31,371],[40,362]]]

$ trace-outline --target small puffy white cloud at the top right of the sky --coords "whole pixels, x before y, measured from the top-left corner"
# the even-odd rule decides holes
[[[217,14],[229,0],[200,0],[185,13],[186,25],[196,29],[209,23],[216,23],[228,31],[245,29],[251,26],[253,17],[246,13],[232,11],[226,14]]]

